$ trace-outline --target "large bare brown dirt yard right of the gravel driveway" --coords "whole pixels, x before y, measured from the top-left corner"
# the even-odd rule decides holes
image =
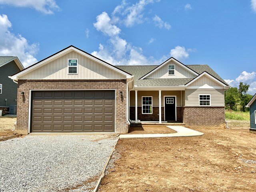
[[[198,128],[198,137],[120,139],[113,157],[120,158],[99,191],[255,191],[256,134],[248,123]]]

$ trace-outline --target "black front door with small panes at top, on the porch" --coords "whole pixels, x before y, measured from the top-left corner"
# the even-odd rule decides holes
[[[175,97],[165,97],[164,98],[164,114],[166,121],[175,121],[176,120],[176,101]]]

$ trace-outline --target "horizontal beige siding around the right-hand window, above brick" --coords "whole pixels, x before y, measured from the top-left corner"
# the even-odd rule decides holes
[[[199,95],[211,95],[211,106],[224,106],[224,89],[186,89],[186,106],[199,106]]]

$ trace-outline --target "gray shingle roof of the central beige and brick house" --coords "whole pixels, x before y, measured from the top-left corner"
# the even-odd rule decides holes
[[[208,65],[187,65],[189,68],[201,74],[206,71],[221,82],[226,82]],[[134,75],[134,85],[137,86],[180,86],[190,82],[193,78],[158,78],[158,79],[140,79],[142,76],[152,71],[158,65],[148,66],[116,66],[130,74]]]

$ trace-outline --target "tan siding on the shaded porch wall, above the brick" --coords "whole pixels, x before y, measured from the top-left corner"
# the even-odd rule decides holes
[[[152,96],[153,106],[159,106],[159,91],[138,91],[138,106],[142,106],[142,96]],[[176,96],[176,104],[177,106],[181,106],[180,91],[162,91],[162,106],[164,106],[164,96]],[[135,106],[135,91],[130,91],[130,106]]]

